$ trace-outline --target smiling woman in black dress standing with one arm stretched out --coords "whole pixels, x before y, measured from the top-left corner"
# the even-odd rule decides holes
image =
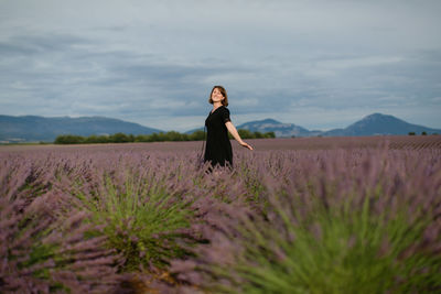
[[[211,162],[212,166],[233,166],[233,150],[227,130],[240,145],[249,150],[252,150],[252,146],[240,139],[239,133],[229,119],[229,110],[226,108],[228,106],[228,96],[225,88],[214,86],[208,102],[213,105],[213,110],[209,111],[205,120],[207,140],[204,162]]]

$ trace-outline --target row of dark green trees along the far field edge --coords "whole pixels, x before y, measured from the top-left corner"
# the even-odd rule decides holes
[[[276,138],[275,132],[251,132],[248,130],[237,130],[241,139],[266,139]],[[228,133],[229,139],[233,139]],[[125,134],[114,133],[110,135],[75,135],[75,134],[61,134],[56,137],[54,144],[94,144],[94,143],[130,143],[130,142],[164,142],[164,141],[201,141],[205,140],[206,133],[204,131],[195,131],[191,134],[180,133],[176,131],[160,132],[152,134]]]

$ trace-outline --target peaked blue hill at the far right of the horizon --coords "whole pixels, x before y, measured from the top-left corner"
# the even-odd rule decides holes
[[[334,129],[323,132],[321,135],[378,135],[378,134],[408,134],[415,132],[439,133],[441,130],[423,126],[412,124],[394,116],[373,113],[354,122],[345,129]]]

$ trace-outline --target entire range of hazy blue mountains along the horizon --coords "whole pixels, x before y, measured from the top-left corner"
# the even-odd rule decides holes
[[[276,137],[332,137],[332,135],[385,135],[385,134],[428,134],[441,133],[440,129],[412,124],[394,116],[373,113],[345,129],[330,131],[308,130],[293,123],[282,123],[273,119],[249,121],[236,127],[251,132],[275,132]],[[191,130],[191,133],[198,129]],[[36,116],[0,116],[0,143],[8,142],[52,142],[60,134],[112,134],[117,132],[131,134],[151,134],[164,132],[159,129],[143,127],[138,123],[105,117],[56,117],[45,118]]]

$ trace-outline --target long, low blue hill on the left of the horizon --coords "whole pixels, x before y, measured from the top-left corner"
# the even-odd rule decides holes
[[[151,134],[161,130],[138,123],[105,117],[55,117],[0,116],[0,141],[3,142],[52,142],[60,134]]]

